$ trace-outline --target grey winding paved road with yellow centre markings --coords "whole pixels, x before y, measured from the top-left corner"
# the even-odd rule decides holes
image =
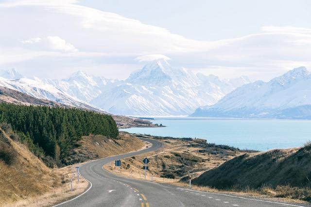
[[[205,193],[161,185],[149,181],[123,178],[104,171],[102,166],[115,159],[154,151],[162,143],[146,140],[152,147],[111,158],[98,159],[81,166],[80,172],[89,182],[91,188],[83,195],[61,207],[284,207],[295,206],[256,199],[247,199],[225,194]],[[299,205],[297,205],[299,206]]]

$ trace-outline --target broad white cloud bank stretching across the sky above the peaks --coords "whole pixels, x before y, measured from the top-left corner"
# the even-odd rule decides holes
[[[87,70],[86,63],[91,63],[98,70],[105,64],[103,74],[111,64],[111,74],[116,64],[138,64],[138,69],[141,65],[133,59],[156,58],[150,54],[163,54],[175,66],[200,72],[238,76],[242,74],[233,71],[239,68],[239,73],[254,74],[256,79],[272,77],[267,71],[281,74],[293,65],[311,67],[310,28],[267,26],[239,38],[199,41],[75,0],[8,1],[0,4],[0,13],[5,17],[0,21],[0,67],[18,64],[34,73],[44,64],[51,70],[61,70],[62,65],[63,70]],[[124,67],[121,75],[128,70]]]

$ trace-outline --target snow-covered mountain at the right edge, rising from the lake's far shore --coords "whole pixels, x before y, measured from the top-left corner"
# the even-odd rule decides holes
[[[311,117],[311,73],[298,67],[269,82],[243,85],[215,105],[198,108],[191,116]]]

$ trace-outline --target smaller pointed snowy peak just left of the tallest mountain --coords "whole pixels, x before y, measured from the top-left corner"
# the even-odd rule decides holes
[[[109,87],[112,87],[114,83],[118,82],[118,80],[90,76],[83,71],[73,73],[68,79],[44,79],[43,81],[53,85],[70,96],[85,102],[91,101],[95,97],[99,96],[103,91]]]

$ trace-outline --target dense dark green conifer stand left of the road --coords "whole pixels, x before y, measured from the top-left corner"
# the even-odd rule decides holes
[[[119,135],[110,115],[74,108],[24,106],[0,103],[0,123],[8,123],[38,157],[61,161],[82,136]]]

